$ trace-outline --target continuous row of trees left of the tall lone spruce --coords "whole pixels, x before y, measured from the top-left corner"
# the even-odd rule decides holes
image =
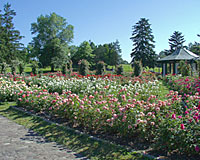
[[[20,43],[23,36],[14,27],[15,15],[8,3],[4,5],[3,13],[0,11],[0,63],[11,65],[13,61],[29,63],[32,60],[40,67],[50,66],[51,71],[71,61],[77,67],[82,59],[89,62],[90,69],[96,69],[99,61],[112,66],[128,63],[122,59],[118,40],[100,45],[92,41],[72,45],[74,27],[56,13],[40,15],[31,24],[33,39],[24,47]]]

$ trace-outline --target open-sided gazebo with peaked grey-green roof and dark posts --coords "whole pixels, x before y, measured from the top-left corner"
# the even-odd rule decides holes
[[[192,53],[191,51],[188,51],[185,48],[180,48],[180,49],[177,49],[171,55],[158,59],[157,62],[162,64],[162,75],[165,76],[166,74],[171,73],[172,65],[173,65],[173,74],[177,74],[178,63],[181,60],[185,60],[189,62],[192,67],[192,70],[194,71],[196,69],[196,63],[194,62],[198,58],[199,56]],[[169,72],[167,70],[167,64],[169,64]]]

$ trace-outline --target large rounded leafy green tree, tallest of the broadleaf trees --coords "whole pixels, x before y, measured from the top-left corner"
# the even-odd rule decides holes
[[[37,22],[31,24],[31,33],[36,36],[32,40],[32,54],[43,67],[51,66],[51,71],[68,60],[69,43],[73,39],[73,26],[66,19],[52,13],[39,16]]]

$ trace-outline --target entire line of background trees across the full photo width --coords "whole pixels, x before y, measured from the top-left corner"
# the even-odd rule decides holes
[[[25,63],[35,61],[40,67],[50,66],[51,71],[54,71],[55,68],[63,68],[69,63],[77,67],[82,59],[89,62],[88,65],[92,70],[97,68],[100,61],[106,66],[116,67],[128,63],[122,59],[118,40],[106,44],[95,44],[89,40],[79,46],[72,45],[74,27],[56,13],[40,15],[37,21],[31,24],[33,39],[25,47],[20,43],[23,36],[14,27],[14,16],[16,12],[8,3],[4,5],[3,11],[0,10],[0,65],[8,64],[14,70],[17,64],[24,68]],[[200,43],[184,46],[184,36],[179,31],[175,31],[169,38],[170,49],[156,54],[151,24],[146,18],[141,18],[132,30],[130,38],[133,41],[132,66],[135,61],[137,62],[135,64],[139,64],[139,61],[143,67],[154,67],[157,65],[158,57],[170,55],[181,47],[200,55]]]

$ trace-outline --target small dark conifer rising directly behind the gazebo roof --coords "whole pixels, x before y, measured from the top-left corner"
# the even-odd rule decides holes
[[[175,50],[182,48],[184,42],[185,40],[182,33],[179,31],[175,31],[173,35],[171,35],[171,38],[169,39],[170,50],[168,52],[168,55],[172,54]]]

